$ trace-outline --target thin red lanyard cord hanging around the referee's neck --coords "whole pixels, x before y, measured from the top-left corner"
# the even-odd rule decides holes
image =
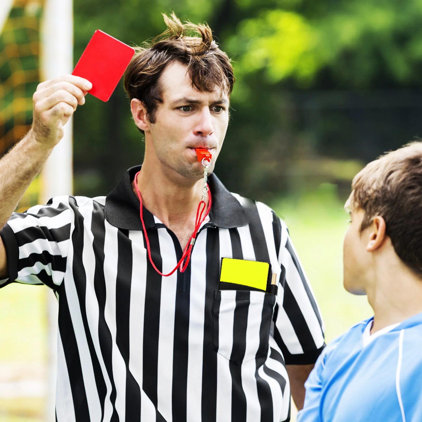
[[[204,210],[205,210],[205,207],[206,207],[205,195],[203,195],[202,200],[200,201],[200,203],[198,205],[198,209],[196,211],[195,230],[193,231],[192,236],[189,238],[189,242],[185,246],[185,249],[183,251],[182,257],[180,258],[180,261],[177,263],[177,265],[173,269],[173,271],[171,271],[168,274],[163,274],[161,271],[158,270],[158,268],[155,266],[154,262],[152,262],[151,248],[149,247],[149,239],[148,239],[148,235],[146,234],[145,223],[143,222],[142,197],[141,197],[141,192],[139,192],[138,183],[137,183],[138,174],[139,174],[139,171],[135,175],[135,189],[136,189],[136,193],[138,194],[139,202],[141,203],[141,205],[139,207],[139,214],[141,216],[143,235],[145,236],[146,249],[148,251],[149,262],[151,262],[151,265],[154,267],[154,270],[157,271],[157,273],[159,273],[160,276],[163,276],[163,277],[171,276],[177,270],[177,268],[180,268],[180,272],[184,273],[184,271],[186,270],[186,268],[189,264],[190,254],[192,252],[193,244],[195,243],[195,238],[196,238],[196,235],[198,233],[199,227],[202,224],[202,222],[205,220],[206,216],[208,215],[208,213],[210,212],[210,209],[211,209],[211,192],[209,190],[208,184],[206,185],[207,191],[208,191],[208,208],[206,210],[206,213],[204,215],[202,215]],[[183,263],[185,258],[186,258],[186,262]]]

